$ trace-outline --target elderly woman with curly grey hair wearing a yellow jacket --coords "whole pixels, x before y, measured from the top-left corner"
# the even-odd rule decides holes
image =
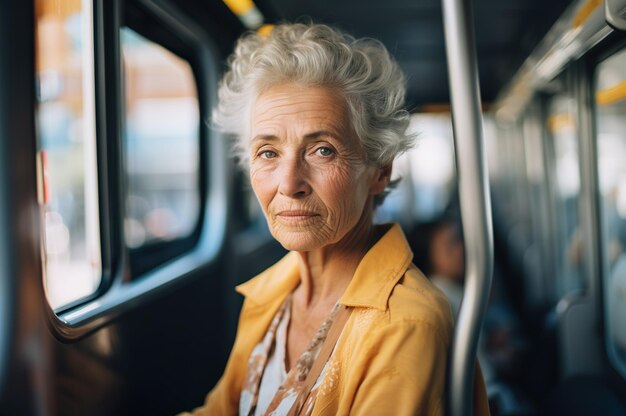
[[[194,414],[442,414],[450,307],[400,227],[372,220],[412,142],[400,68],[315,24],[246,34],[229,68],[214,123],[290,253],[237,288],[230,359]]]

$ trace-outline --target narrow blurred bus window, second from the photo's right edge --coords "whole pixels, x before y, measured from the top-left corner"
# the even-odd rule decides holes
[[[554,204],[557,244],[556,297],[580,291],[582,279],[581,227],[578,214],[580,195],[579,152],[576,136],[576,100],[567,93],[552,97],[546,119],[548,145],[554,156]]]

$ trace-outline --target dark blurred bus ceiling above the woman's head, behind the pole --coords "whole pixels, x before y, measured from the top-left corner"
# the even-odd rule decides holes
[[[177,3],[190,10],[199,7],[195,0]],[[442,8],[437,0],[362,0],[339,4],[317,0],[228,0],[225,3],[231,6],[233,15],[239,16],[241,30],[304,19],[338,26],[356,37],[379,39],[408,74],[409,109],[422,111],[420,107],[424,104],[449,102]],[[482,99],[490,103],[571,0],[475,0],[472,3]]]

